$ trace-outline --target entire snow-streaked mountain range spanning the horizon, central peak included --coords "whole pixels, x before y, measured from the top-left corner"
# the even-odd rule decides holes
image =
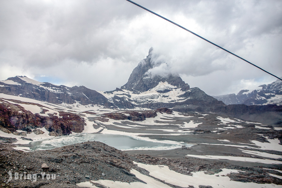
[[[191,88],[179,75],[153,75],[150,70],[160,63],[154,61],[152,53],[153,48],[150,48],[146,59],[141,60],[134,68],[128,82],[113,91],[95,91],[85,86],[58,86],[38,82],[26,76],[16,76],[0,81],[0,93],[72,107],[117,110],[155,110],[166,107],[177,112],[217,113],[248,120],[257,120],[259,116],[266,123],[282,121],[282,106],[276,105],[281,104],[281,101],[275,101],[275,98],[282,96],[282,82],[262,85],[253,91],[243,90],[238,95],[212,97],[198,87]],[[263,114],[267,114],[267,120],[261,118]]]

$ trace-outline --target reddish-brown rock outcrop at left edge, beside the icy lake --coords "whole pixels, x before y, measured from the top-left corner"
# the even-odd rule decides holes
[[[0,101],[3,100],[0,99]],[[19,103],[19,101],[17,102]],[[25,104],[33,103],[25,102]],[[56,114],[48,115],[33,114],[20,105],[10,104],[7,101],[0,103],[0,127],[6,133],[22,135],[31,133],[32,129],[35,129],[33,131],[35,134],[42,134],[43,132],[36,128],[45,127],[51,136],[63,136],[69,135],[71,132],[81,133],[86,125],[80,116],[70,112],[60,112],[60,117]],[[18,133],[16,130],[23,130],[26,133]]]

